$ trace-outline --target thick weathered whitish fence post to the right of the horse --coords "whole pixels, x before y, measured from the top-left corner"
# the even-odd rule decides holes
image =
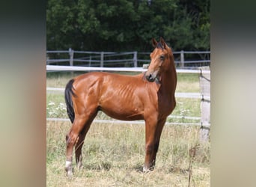
[[[206,142],[210,131],[210,73],[203,73],[203,70],[210,70],[210,67],[199,67],[201,70],[199,82],[201,89],[201,128],[200,141]]]

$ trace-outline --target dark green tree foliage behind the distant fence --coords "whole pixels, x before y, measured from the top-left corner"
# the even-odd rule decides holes
[[[47,49],[150,51],[160,36],[174,50],[210,49],[210,0],[48,0]]]

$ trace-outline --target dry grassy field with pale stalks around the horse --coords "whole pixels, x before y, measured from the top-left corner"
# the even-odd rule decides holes
[[[47,74],[46,84],[64,88],[70,78],[70,73]],[[199,92],[198,75],[178,74],[177,92]],[[47,117],[67,118],[63,93],[47,93],[46,102]],[[173,114],[199,117],[200,100],[177,99]],[[106,115],[99,114],[98,118],[105,119]],[[73,161],[74,175],[67,178],[65,135],[70,126],[70,122],[47,121],[47,186],[188,186],[189,150],[196,145],[191,186],[210,186],[210,142],[198,141],[198,126],[165,126],[156,168],[144,174],[144,125],[93,123],[82,149],[84,166],[79,171]]]

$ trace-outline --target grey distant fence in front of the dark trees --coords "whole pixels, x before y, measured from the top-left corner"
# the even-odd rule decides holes
[[[198,66],[210,65],[210,52],[180,51],[173,52],[174,63],[180,69],[196,69]],[[46,64],[79,65],[86,67],[140,67],[150,62],[150,52],[88,52],[58,50],[46,51]],[[187,56],[185,58],[185,55]],[[189,58],[189,55],[198,55]],[[185,60],[186,59],[186,60]]]

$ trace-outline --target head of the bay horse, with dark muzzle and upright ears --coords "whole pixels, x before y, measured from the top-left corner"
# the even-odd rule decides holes
[[[145,73],[145,77],[149,82],[159,80],[161,73],[170,70],[171,61],[173,61],[171,48],[168,47],[162,37],[160,37],[159,42],[156,42],[153,38],[152,45],[155,49],[150,53],[151,61]]]

